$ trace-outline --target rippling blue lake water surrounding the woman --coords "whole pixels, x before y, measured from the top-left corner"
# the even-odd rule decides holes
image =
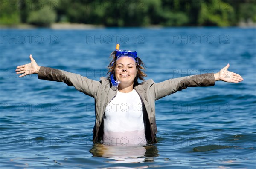
[[[0,168],[230,169],[256,166],[256,29],[1,29]],[[93,144],[93,98],[64,83],[19,78],[29,54],[40,66],[99,80],[115,49],[136,50],[147,79],[218,72],[230,63],[239,84],[218,81],[156,101],[159,143]]]

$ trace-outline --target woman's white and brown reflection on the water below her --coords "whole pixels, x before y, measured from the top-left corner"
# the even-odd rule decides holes
[[[102,143],[95,143],[90,153],[95,157],[112,159],[109,163],[143,163],[153,162],[158,157],[157,146],[108,146]],[[113,161],[115,160],[115,161]]]

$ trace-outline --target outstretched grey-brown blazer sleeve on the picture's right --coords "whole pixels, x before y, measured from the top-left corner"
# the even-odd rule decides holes
[[[154,83],[151,86],[151,92],[155,95],[155,100],[158,100],[167,95],[171,95],[187,87],[197,86],[214,86],[215,78],[213,73],[192,75],[186,77],[180,77],[175,79],[169,79],[160,83]]]

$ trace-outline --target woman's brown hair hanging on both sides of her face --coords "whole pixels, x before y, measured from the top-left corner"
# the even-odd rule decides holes
[[[110,79],[111,74],[114,75],[114,78],[116,79],[115,76],[115,69],[116,69],[116,60],[117,60],[117,56],[116,56],[116,51],[113,51],[110,55],[110,60],[111,62],[108,65],[108,79]],[[147,74],[145,74],[144,70],[145,70],[145,64],[143,63],[143,61],[140,59],[140,57],[137,57],[135,59],[135,63],[136,63],[136,77],[134,79],[134,86],[138,85],[138,78],[140,80],[144,80],[144,77],[147,77]]]

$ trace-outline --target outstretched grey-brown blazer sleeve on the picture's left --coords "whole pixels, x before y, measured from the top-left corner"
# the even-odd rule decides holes
[[[38,79],[64,82],[68,86],[74,86],[78,91],[83,92],[91,97],[96,96],[100,87],[100,82],[88,79],[80,74],[70,73],[59,69],[43,67],[38,71]]]

